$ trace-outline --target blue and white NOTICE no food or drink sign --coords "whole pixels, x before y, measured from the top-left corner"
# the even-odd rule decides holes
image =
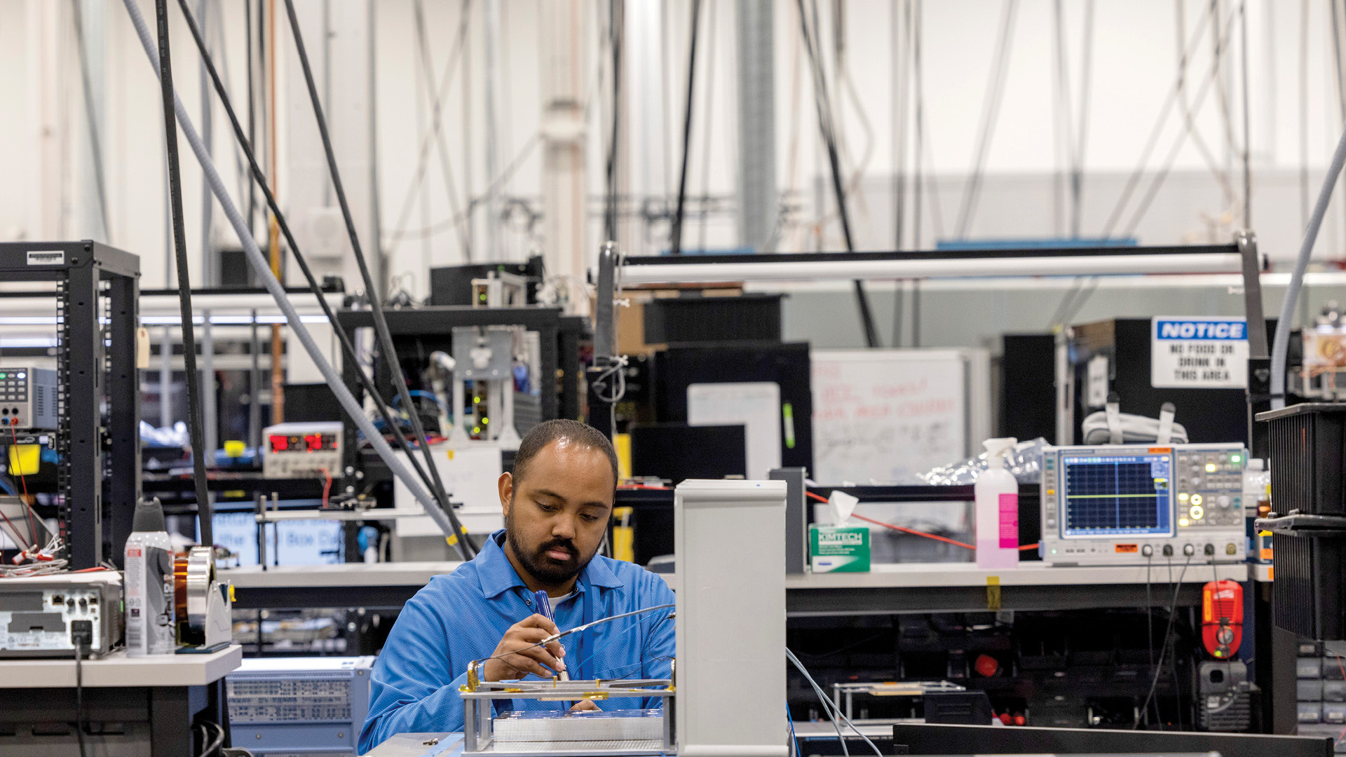
[[[1248,387],[1248,322],[1242,318],[1156,317],[1149,329],[1152,387]]]

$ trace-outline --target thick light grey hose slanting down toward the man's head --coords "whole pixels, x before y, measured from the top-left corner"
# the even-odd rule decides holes
[[[144,16],[140,13],[140,5],[136,0],[122,0],[122,5],[127,8],[127,13],[131,16],[132,26],[136,28],[136,35],[140,38],[140,44],[145,51],[145,57],[149,59],[149,65],[153,69],[155,75],[157,75],[160,70],[159,51],[153,36],[149,34],[149,27],[145,24]],[[425,508],[425,515],[428,515],[431,520],[440,527],[444,532],[446,540],[455,547],[460,556],[467,559],[462,547],[464,541],[459,539],[459,531],[454,527],[451,515],[446,513],[439,506],[439,502],[425,492],[420,481],[417,481],[416,477],[406,470],[406,465],[398,459],[392,447],[388,446],[388,442],[384,440],[382,434],[380,434],[374,428],[374,424],[365,418],[363,408],[361,408],[359,403],[355,401],[355,397],[351,396],[350,389],[346,388],[346,384],[342,381],[342,377],[336,373],[336,370],[332,369],[331,362],[323,354],[322,348],[319,348],[318,342],[314,341],[308,327],[304,326],[299,312],[295,311],[295,306],[285,295],[285,288],[276,279],[276,275],[272,272],[267,259],[258,249],[257,241],[248,233],[248,224],[244,221],[242,214],[238,213],[233,199],[229,197],[229,190],[225,189],[223,180],[219,178],[219,172],[215,170],[214,162],[206,152],[206,145],[201,141],[201,135],[197,133],[197,128],[192,125],[191,116],[187,113],[182,100],[172,96],[172,106],[178,116],[178,123],[182,127],[183,135],[187,137],[187,143],[197,155],[197,162],[201,164],[202,171],[210,176],[210,186],[215,193],[215,198],[219,201],[221,209],[229,218],[230,225],[234,228],[234,233],[238,236],[238,240],[242,242],[244,253],[248,256],[249,265],[253,267],[253,272],[261,279],[267,292],[276,300],[276,307],[279,307],[284,314],[291,331],[303,345],[304,352],[307,352],[312,358],[314,365],[318,368],[318,372],[322,373],[323,380],[332,389],[332,393],[336,395],[336,401],[341,403],[342,408],[351,418],[351,420],[354,420],[355,426],[365,432],[365,436],[369,439],[369,443],[374,447],[378,457],[388,465],[393,475],[400,478],[406,485],[412,497],[415,497],[416,501]]]

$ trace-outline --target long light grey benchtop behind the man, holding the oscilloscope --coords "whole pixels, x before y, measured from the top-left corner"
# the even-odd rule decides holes
[[[458,562],[343,563],[330,566],[242,567],[221,571],[234,583],[237,609],[280,607],[400,607],[435,575],[452,572]],[[1245,563],[1187,566],[1168,563],[1106,567],[1049,567],[1020,563],[988,571],[973,563],[876,564],[870,572],[786,577],[790,616],[899,614],[993,609],[999,581],[1004,610],[1070,610],[1088,607],[1167,606],[1182,578],[1178,603],[1197,605],[1201,586],[1217,577],[1245,582]],[[672,583],[672,575],[660,574]],[[992,582],[993,583],[993,582]],[[1164,587],[1168,587],[1166,594]]]

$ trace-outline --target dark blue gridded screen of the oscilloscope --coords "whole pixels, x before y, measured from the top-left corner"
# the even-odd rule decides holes
[[[1063,457],[1061,535],[1171,536],[1168,455]]]

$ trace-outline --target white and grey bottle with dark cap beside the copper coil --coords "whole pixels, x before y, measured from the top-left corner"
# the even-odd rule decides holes
[[[172,541],[157,498],[136,505],[125,556],[127,656],[171,655],[176,647]]]

